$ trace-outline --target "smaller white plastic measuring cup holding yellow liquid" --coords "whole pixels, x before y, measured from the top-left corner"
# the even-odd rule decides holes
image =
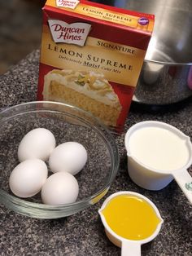
[[[144,237],[144,239],[139,240],[137,239],[128,239],[125,238],[125,236],[120,236],[120,232],[116,231],[116,228],[111,226],[110,220],[109,218],[111,218],[111,214],[105,214],[105,209],[107,209],[107,207],[110,207],[110,203],[112,202],[113,199],[118,198],[120,196],[130,196],[130,197],[136,197],[138,201],[145,201],[145,203],[148,205],[147,207],[150,207],[150,213],[154,214],[154,218],[156,218],[156,223],[155,226],[151,229],[149,228],[149,236]],[[122,206],[122,205],[121,205]],[[120,227],[123,227],[124,230],[129,230],[129,221],[131,221],[132,225],[134,225],[134,221],[137,222],[137,216],[139,216],[139,214],[142,214],[143,216],[145,216],[145,221],[143,221],[143,223],[145,223],[145,228],[147,228],[148,223],[151,223],[151,214],[147,215],[144,212],[137,212],[137,208],[133,205],[129,204],[129,201],[123,204],[123,209],[120,205],[115,205],[116,209],[113,211],[116,212],[116,210],[120,210],[119,214],[116,214],[115,218],[117,221],[117,225]],[[146,206],[145,206],[146,207]],[[111,210],[110,208],[108,209],[109,211]],[[125,211],[125,214],[129,214],[129,210],[133,211],[133,219],[131,217],[127,217],[128,219],[128,227],[126,227],[126,225],[124,225],[124,223],[122,222],[122,218],[121,218],[121,213],[122,210]],[[116,192],[114,194],[112,194],[111,196],[107,197],[107,199],[103,202],[103,205],[101,207],[100,210],[98,210],[98,213],[100,214],[100,217],[102,219],[103,222],[103,226],[105,227],[105,232],[107,234],[108,239],[116,246],[121,247],[121,255],[122,256],[139,256],[141,255],[141,245],[145,244],[151,240],[153,240],[155,238],[155,236],[157,236],[159,234],[160,228],[162,226],[162,223],[164,222],[163,219],[161,218],[160,214],[159,214],[159,210],[157,209],[157,207],[153,204],[152,201],[150,201],[146,196],[142,196],[141,194],[137,193],[137,192],[128,192],[128,191],[124,191],[124,192]],[[127,221],[127,220],[125,220]],[[135,226],[139,227],[142,226],[141,221],[138,221],[137,223],[135,223]],[[134,228],[135,226],[133,226],[132,228]],[[135,229],[137,230],[137,227],[135,227]],[[142,227],[142,229],[144,229],[144,227]],[[137,237],[139,236],[139,234],[142,234],[142,229],[140,232],[138,232]],[[130,227],[130,232],[131,232],[131,227]],[[130,234],[131,236],[131,234]]]

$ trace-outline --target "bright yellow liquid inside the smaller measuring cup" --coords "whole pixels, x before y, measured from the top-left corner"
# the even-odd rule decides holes
[[[160,223],[151,205],[133,195],[124,194],[112,198],[102,214],[113,232],[129,240],[146,239]]]

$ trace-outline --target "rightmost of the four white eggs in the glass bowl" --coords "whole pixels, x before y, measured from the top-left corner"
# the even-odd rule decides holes
[[[81,143],[66,142],[57,146],[50,154],[49,165],[52,172],[67,171],[72,175],[83,169],[87,152]]]

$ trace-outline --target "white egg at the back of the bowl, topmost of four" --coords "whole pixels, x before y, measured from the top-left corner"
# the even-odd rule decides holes
[[[18,148],[19,161],[27,159],[48,160],[55,148],[55,136],[45,128],[30,130],[21,140]]]

